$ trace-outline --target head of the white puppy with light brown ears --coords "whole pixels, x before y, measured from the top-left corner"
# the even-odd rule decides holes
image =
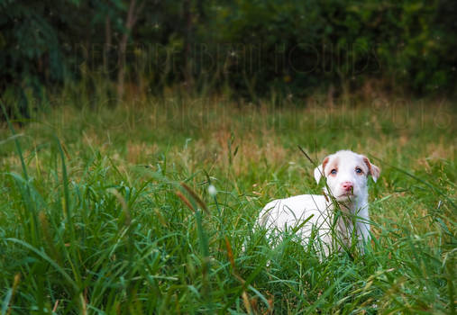
[[[315,181],[321,176],[337,201],[353,200],[367,194],[367,177],[379,177],[379,167],[370,163],[368,157],[349,150],[338,151],[325,157],[320,166],[315,167]]]

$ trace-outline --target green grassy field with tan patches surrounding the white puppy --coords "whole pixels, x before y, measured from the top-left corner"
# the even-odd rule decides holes
[[[52,102],[0,130],[2,315],[455,312],[455,104]],[[297,146],[381,168],[365,255],[253,229],[271,199],[321,191]]]

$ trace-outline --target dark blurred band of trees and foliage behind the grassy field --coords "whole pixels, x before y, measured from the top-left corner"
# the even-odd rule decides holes
[[[0,94],[449,98],[456,34],[453,0],[3,0]]]

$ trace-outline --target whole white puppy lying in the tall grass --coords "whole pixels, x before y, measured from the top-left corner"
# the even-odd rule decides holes
[[[342,244],[350,246],[352,237],[361,245],[370,238],[367,176],[376,182],[379,167],[368,157],[341,150],[315,168],[317,183],[322,175],[326,178],[324,195],[302,194],[269,202],[260,211],[258,223],[269,229],[269,235],[271,229],[291,229],[304,244],[315,229],[328,256]],[[335,205],[341,209],[340,215],[335,215]]]

